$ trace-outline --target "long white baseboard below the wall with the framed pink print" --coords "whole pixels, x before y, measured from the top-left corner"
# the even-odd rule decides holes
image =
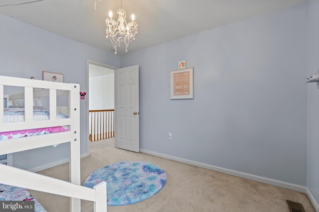
[[[274,180],[274,179],[270,179],[270,178],[266,178],[266,177],[260,177],[257,175],[252,175],[252,174],[247,174],[244,172],[234,171],[231,169],[225,169],[225,168],[221,168],[218,166],[213,166],[213,165],[209,165],[209,164],[205,164],[205,163],[200,163],[200,162],[196,162],[196,161],[192,161],[192,160],[183,159],[180,157],[174,157],[174,156],[170,156],[167,154],[161,154],[158,152],[149,151],[146,149],[140,149],[140,152],[143,152],[146,154],[151,154],[151,155],[162,157],[162,158],[166,158],[166,159],[177,161],[177,162],[181,162],[181,163],[185,163],[185,164],[189,164],[189,165],[193,165],[193,166],[198,166],[198,167],[213,170],[213,171],[218,171],[218,172],[221,172],[224,174],[229,174],[229,175],[233,175],[236,177],[241,177],[241,178],[245,178],[248,180],[253,180],[253,181],[266,183],[269,185],[273,185],[273,186],[277,186],[277,187],[281,187],[281,188],[285,188],[285,189],[289,189],[289,190],[293,190],[293,191],[306,193],[306,187],[300,186],[297,184],[287,183],[284,181]]]

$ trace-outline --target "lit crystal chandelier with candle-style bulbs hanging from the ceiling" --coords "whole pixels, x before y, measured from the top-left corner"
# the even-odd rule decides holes
[[[113,13],[110,10],[109,18],[105,20],[106,22],[106,38],[110,38],[115,54],[117,54],[118,47],[121,46],[121,43],[125,44],[125,52],[128,51],[129,43],[135,39],[135,34],[138,33],[138,24],[135,22],[135,15],[132,14],[132,21],[129,23],[126,22],[126,12],[122,9],[122,0],[121,8],[117,10],[118,20],[115,21]]]

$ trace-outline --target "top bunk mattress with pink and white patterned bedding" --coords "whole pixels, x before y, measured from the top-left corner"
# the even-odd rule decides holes
[[[57,113],[56,119],[65,119],[66,116]],[[33,121],[43,121],[50,119],[50,112],[47,110],[34,110]],[[4,108],[3,123],[23,122],[24,109],[23,108]],[[51,133],[59,133],[68,131],[68,126],[57,126],[49,128],[28,129],[10,132],[0,132],[0,141],[16,139],[22,137],[46,135]]]

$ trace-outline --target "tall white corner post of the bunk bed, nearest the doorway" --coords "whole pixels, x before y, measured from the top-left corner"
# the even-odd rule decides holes
[[[70,142],[70,182],[81,184],[80,172],[80,85],[71,84],[69,97],[69,116],[71,117],[71,142]],[[81,200],[70,199],[70,212],[81,211]]]

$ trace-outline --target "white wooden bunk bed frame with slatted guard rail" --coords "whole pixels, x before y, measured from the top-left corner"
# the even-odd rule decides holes
[[[28,149],[70,143],[70,182],[0,164],[0,183],[70,197],[70,211],[81,211],[81,199],[94,202],[94,212],[106,212],[106,183],[93,189],[80,185],[80,96],[79,84],[0,76],[0,99],[5,86],[24,87],[23,94],[9,99],[24,99],[24,121],[4,123],[3,101],[0,103],[0,131],[11,132],[43,127],[69,126],[69,131],[0,141],[0,155]],[[33,87],[36,88],[34,91]],[[67,94],[68,117],[56,119],[57,95]],[[33,98],[49,94],[49,120],[33,121]]]

